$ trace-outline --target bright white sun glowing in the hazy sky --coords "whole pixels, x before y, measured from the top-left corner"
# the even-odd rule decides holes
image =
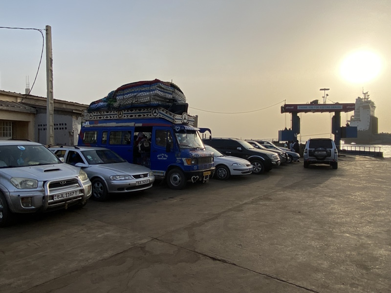
[[[369,82],[380,73],[380,57],[370,51],[351,53],[341,64],[341,75],[351,83]]]

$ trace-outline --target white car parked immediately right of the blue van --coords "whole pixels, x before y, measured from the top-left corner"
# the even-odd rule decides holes
[[[215,177],[219,180],[227,180],[233,175],[251,174],[253,171],[253,165],[247,160],[226,156],[212,146],[205,145],[205,149],[214,153],[215,163],[213,167],[216,167]]]

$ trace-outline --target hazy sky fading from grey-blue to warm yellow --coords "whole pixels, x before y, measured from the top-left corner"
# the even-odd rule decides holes
[[[267,139],[290,127],[284,100],[322,101],[327,87],[330,101],[354,103],[364,87],[379,131],[391,132],[390,0],[0,0],[0,11],[0,26],[51,26],[55,99],[89,104],[122,84],[172,80],[214,136]],[[0,29],[1,90],[24,93],[26,76],[31,87],[42,42],[38,31]],[[348,81],[341,64],[362,50],[380,71]],[[348,75],[371,63],[353,61]],[[45,51],[31,94],[46,96]],[[330,114],[301,121],[303,140],[330,137]]]

